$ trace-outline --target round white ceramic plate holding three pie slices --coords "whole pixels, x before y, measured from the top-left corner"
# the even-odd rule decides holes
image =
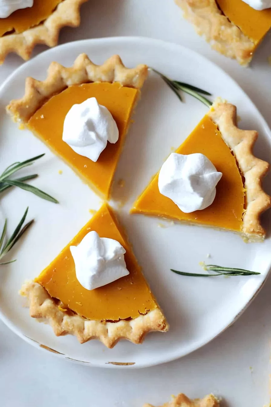
[[[173,79],[191,83],[222,96],[238,106],[239,125],[260,133],[256,153],[267,159],[271,132],[248,96],[225,72],[189,49],[158,40],[119,37],[78,41],[48,50],[16,70],[0,88],[1,170],[46,152],[45,158],[27,169],[39,173],[35,186],[61,202],[55,205],[28,192],[13,189],[1,200],[9,232],[26,206],[35,225],[12,256],[17,262],[2,266],[0,273],[0,316],[17,335],[40,347],[54,349],[59,357],[75,359],[92,366],[117,367],[111,362],[133,363],[144,367],[176,359],[192,352],[227,328],[245,309],[262,286],[269,268],[271,241],[245,244],[239,236],[207,228],[171,225],[158,219],[129,215],[134,199],[141,193],[172,147],[178,145],[207,112],[207,107],[183,95],[180,103],[173,92],[155,74],[147,79],[131,126],[115,181],[124,179],[122,188],[115,182],[113,195],[126,199],[119,209],[121,220],[134,246],[139,263],[150,282],[170,324],[168,333],[151,333],[140,346],[121,341],[107,349],[99,341],[80,345],[75,337],[55,337],[50,326],[39,324],[23,308],[18,295],[22,282],[34,278],[69,242],[98,209],[101,202],[61,160],[56,158],[29,131],[20,131],[6,116],[10,99],[24,93],[24,79],[46,78],[53,60],[71,66],[85,52],[95,63],[117,53],[127,66],[146,63]],[[53,130],[52,130],[53,131]],[[63,174],[59,174],[59,170]],[[268,223],[268,215],[264,221]],[[161,227],[162,226],[162,227]],[[211,257],[207,258],[207,254]],[[201,272],[199,261],[260,271],[260,276],[232,278],[191,278],[178,276],[170,268]],[[120,366],[119,366],[120,367]],[[122,367],[122,366],[121,366]],[[122,367],[123,368],[123,367]]]

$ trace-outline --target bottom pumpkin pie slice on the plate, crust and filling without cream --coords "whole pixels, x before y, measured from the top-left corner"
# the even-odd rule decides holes
[[[76,278],[70,246],[77,246],[93,230],[124,247],[130,274],[88,290]],[[168,330],[124,229],[107,204],[34,281],[22,286],[21,294],[28,298],[31,317],[46,319],[56,336],[75,335],[80,343],[100,339],[108,348],[113,348],[121,338],[140,344],[148,332]]]

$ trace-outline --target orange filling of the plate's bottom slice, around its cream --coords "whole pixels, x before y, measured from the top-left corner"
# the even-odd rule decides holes
[[[78,245],[91,230],[95,230],[100,237],[117,240],[126,249],[124,258],[130,274],[103,287],[87,290],[76,278],[74,259],[69,247]],[[41,272],[35,282],[41,284],[52,298],[61,301],[61,311],[68,307],[74,313],[90,320],[129,320],[158,308],[125,232],[106,204]]]

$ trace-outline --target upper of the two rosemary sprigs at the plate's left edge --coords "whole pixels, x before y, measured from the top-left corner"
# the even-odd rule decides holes
[[[17,179],[9,179],[9,177],[14,174],[15,172],[21,170],[24,167],[28,167],[33,164],[35,160],[43,157],[44,154],[37,155],[36,157],[29,158],[26,161],[22,162],[14,162],[13,164],[9,165],[4,172],[0,175],[0,193],[12,186],[17,186],[22,188],[26,191],[32,192],[33,194],[37,195],[42,199],[46,199],[47,201],[54,202],[55,204],[59,204],[55,198],[51,197],[47,193],[41,191],[39,188],[36,188],[33,185],[25,184],[25,181],[29,181],[30,179],[37,178],[37,174],[27,175],[25,177],[17,178]]]

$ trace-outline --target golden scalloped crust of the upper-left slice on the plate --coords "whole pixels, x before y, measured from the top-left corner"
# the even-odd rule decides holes
[[[119,55],[113,55],[102,65],[95,65],[86,54],[80,54],[71,68],[52,62],[44,81],[26,78],[25,94],[7,106],[7,113],[15,121],[26,123],[51,96],[71,85],[87,82],[119,82],[123,86],[140,89],[147,77],[146,65],[126,68]]]

